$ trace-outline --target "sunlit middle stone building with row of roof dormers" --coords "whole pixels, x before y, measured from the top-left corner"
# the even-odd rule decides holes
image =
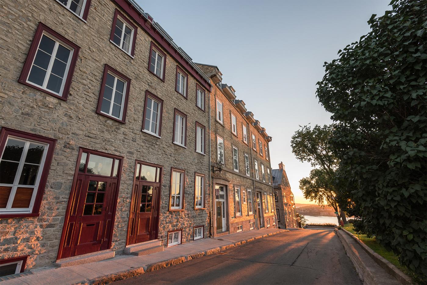
[[[269,161],[271,137],[232,86],[222,83],[218,67],[198,64],[210,77],[211,233],[277,227]],[[223,167],[219,171],[218,162]]]

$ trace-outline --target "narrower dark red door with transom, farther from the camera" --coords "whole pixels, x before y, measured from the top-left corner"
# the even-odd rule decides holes
[[[157,238],[161,166],[136,162],[127,244]]]

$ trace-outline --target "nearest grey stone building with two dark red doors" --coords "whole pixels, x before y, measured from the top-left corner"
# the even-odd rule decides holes
[[[3,273],[208,237],[211,79],[133,0],[0,9]]]

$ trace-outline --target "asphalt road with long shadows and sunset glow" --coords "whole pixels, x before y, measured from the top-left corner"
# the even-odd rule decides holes
[[[362,284],[332,230],[291,230],[113,284]]]

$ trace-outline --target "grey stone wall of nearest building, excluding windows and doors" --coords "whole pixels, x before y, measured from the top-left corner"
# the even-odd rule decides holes
[[[175,91],[177,61],[166,50],[165,81],[150,73],[147,67],[154,40],[114,1],[92,0],[87,21],[51,0],[3,0],[0,9],[0,127],[57,140],[39,215],[0,218],[0,259],[29,255],[27,269],[56,261],[81,147],[123,157],[111,246],[117,253],[126,246],[135,160],[163,166],[158,238],[166,241],[168,230],[182,228],[182,241],[192,241],[193,226],[200,225],[205,225],[208,237],[210,157],[196,153],[194,145],[196,121],[209,134],[209,113],[196,107],[198,81],[190,72],[188,99]],[[109,41],[115,9],[138,27],[134,57]],[[67,101],[18,83],[39,22],[80,47]],[[96,113],[105,64],[132,80],[125,124]],[[191,70],[190,66],[182,68]],[[146,90],[164,101],[161,138],[141,132]],[[208,102],[209,91],[205,92]],[[187,115],[187,148],[172,143],[174,108]],[[169,211],[171,167],[186,172],[184,211]],[[206,177],[206,208],[202,210],[193,206],[195,172]]]

